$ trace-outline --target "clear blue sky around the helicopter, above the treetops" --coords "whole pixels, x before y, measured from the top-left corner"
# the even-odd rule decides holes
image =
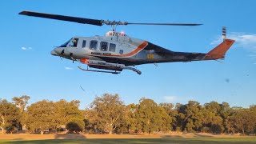
[[[142,97],[155,102],[195,100],[229,102],[230,106],[256,104],[256,2],[253,0],[211,1],[15,1],[2,2],[0,38],[0,98],[30,95],[30,103],[42,99],[81,101],[90,105],[95,95],[119,94],[126,103]],[[174,62],[136,66],[138,75],[90,73],[78,70],[79,63],[50,55],[74,36],[103,35],[110,26],[90,26],[18,13],[32,10],[84,18],[127,22],[202,23],[202,26],[118,26],[133,38],[174,51],[208,52],[221,42],[222,26],[237,42],[224,63]],[[83,91],[80,86],[85,89]]]

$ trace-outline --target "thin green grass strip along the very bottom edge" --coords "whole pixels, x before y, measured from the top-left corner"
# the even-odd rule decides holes
[[[97,143],[97,144],[125,144],[125,143],[256,143],[256,138],[107,138],[107,139],[48,139],[48,140],[0,140],[0,143]]]

